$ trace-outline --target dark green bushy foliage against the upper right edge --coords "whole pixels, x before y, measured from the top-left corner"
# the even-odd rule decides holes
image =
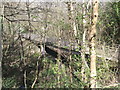
[[[108,45],[120,44],[120,2],[107,3],[105,12],[100,10],[100,19],[98,27],[104,26],[101,40]],[[104,8],[104,7],[103,7]]]

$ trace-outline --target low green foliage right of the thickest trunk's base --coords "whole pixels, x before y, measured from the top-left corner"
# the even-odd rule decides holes
[[[110,62],[105,61],[102,58],[97,58],[97,80],[100,87],[107,85],[114,80],[115,72],[110,70],[111,67],[113,66]]]

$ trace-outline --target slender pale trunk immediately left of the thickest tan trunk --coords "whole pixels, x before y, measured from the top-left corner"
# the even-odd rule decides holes
[[[89,1],[90,2],[90,1]],[[82,58],[82,69],[81,69],[81,75],[82,75],[82,81],[84,83],[87,83],[88,82],[88,77],[87,77],[87,73],[88,73],[88,70],[89,70],[89,66],[86,62],[86,59],[85,59],[85,52],[87,50],[87,31],[88,31],[88,15],[87,15],[87,11],[88,11],[88,7],[90,6],[89,5],[89,2],[87,4],[87,8],[86,8],[86,5],[85,5],[85,0],[82,1],[83,3],[83,6],[82,6],[82,13],[83,13],[83,25],[82,25],[82,29],[83,29],[83,35],[82,35],[82,47],[81,47],[81,58]],[[86,2],[87,3],[87,2]]]

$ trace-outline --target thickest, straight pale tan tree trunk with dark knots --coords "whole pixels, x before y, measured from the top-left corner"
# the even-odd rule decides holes
[[[92,11],[92,26],[91,30],[89,32],[89,41],[90,41],[90,70],[91,70],[91,80],[90,80],[90,87],[91,88],[96,88],[96,51],[95,51],[95,45],[96,45],[96,23],[97,23],[97,18],[98,18],[98,0],[93,0],[93,11]]]

